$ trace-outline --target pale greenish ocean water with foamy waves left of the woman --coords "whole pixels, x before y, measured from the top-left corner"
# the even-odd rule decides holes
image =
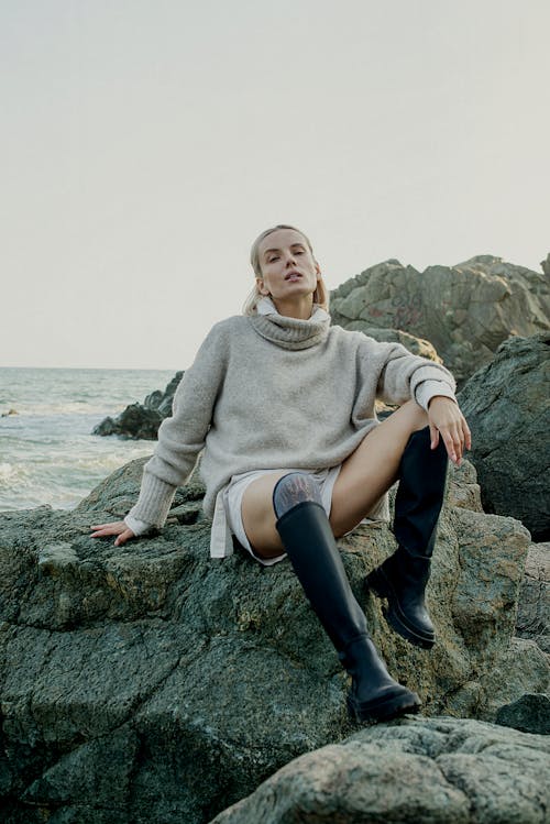
[[[0,367],[0,512],[41,504],[70,509],[110,472],[151,454],[153,441],[91,430],[173,377],[150,370]]]

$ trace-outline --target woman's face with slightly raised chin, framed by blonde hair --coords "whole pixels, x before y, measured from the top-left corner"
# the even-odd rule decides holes
[[[262,277],[256,281],[262,295],[286,303],[314,294],[321,271],[299,232],[277,229],[263,239],[258,253]]]

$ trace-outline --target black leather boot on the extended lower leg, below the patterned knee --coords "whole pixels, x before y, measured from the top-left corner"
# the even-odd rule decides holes
[[[394,681],[369,636],[323,507],[297,504],[277,520],[294,570],[338,656],[352,677],[348,710],[358,721],[416,712],[420,700]]]

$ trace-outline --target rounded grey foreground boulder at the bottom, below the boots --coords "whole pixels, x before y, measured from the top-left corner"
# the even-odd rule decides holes
[[[547,821],[550,740],[455,718],[362,729],[283,767],[211,824]]]

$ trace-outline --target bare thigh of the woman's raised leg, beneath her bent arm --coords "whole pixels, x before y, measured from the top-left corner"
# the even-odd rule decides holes
[[[330,524],[337,537],[353,529],[397,480],[410,435],[428,425],[414,400],[404,404],[362,440],[345,459],[332,492]]]

